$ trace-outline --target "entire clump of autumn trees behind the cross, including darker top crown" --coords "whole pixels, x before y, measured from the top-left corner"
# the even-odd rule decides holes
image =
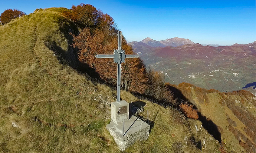
[[[101,79],[110,84],[116,84],[117,68],[113,59],[96,59],[96,54],[113,54],[117,49],[116,24],[111,16],[96,10],[90,4],[72,6],[63,15],[83,26],[78,36],[73,35],[73,47],[79,50],[78,58],[82,63],[98,72]],[[126,54],[134,54],[132,48],[122,38],[122,49]],[[126,59],[121,64],[121,87],[130,92],[144,93],[147,88],[145,65],[140,58]]]

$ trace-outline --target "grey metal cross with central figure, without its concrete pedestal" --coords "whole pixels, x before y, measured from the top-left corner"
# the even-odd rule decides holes
[[[125,58],[138,58],[139,55],[126,55],[125,50],[122,50],[122,32],[118,31],[118,49],[114,49],[114,54],[98,54],[95,57],[98,59],[114,58],[114,63],[117,63],[117,89],[116,102],[120,102],[120,83],[121,83],[121,63],[124,63]]]

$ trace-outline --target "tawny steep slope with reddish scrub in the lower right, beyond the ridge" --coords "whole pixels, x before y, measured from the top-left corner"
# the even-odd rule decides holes
[[[251,92],[224,93],[189,83],[171,86],[179,100],[187,100],[197,107],[199,120],[230,151],[255,152],[255,96]],[[210,121],[215,129],[209,127]]]

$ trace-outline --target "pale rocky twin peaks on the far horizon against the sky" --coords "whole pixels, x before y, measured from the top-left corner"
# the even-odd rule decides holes
[[[189,39],[178,38],[178,37],[165,39],[161,41],[153,40],[150,37],[147,37],[141,41],[132,41],[128,44],[130,44],[131,46],[135,46],[139,44],[141,46],[148,45],[151,47],[167,47],[167,46],[177,47],[177,46],[183,46],[184,44],[194,44],[194,42]]]

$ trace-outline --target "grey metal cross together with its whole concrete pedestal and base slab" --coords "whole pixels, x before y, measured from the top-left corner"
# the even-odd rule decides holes
[[[137,58],[139,55],[126,55],[125,50],[122,50],[122,32],[118,31],[117,35],[118,47],[114,49],[114,53],[98,54],[96,58],[114,58],[114,63],[117,63],[116,102],[111,102],[110,104],[111,120],[110,123],[106,125],[106,129],[113,136],[119,149],[124,151],[135,142],[148,139],[150,125],[133,115],[129,118],[129,103],[120,98],[121,63],[125,62],[125,58]],[[109,52],[109,50],[106,51]]]

